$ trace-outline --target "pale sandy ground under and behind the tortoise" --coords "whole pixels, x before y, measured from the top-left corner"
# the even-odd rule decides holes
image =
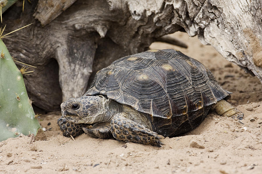
[[[262,173],[262,85],[256,77],[226,61],[211,46],[186,33],[173,35],[188,49],[153,43],[152,49],[174,48],[198,59],[217,81],[233,92],[229,102],[245,117],[242,122],[209,116],[195,130],[165,138],[162,148],[87,135],[63,137],[56,120],[61,113],[42,115],[47,141],[32,137],[0,142],[0,173]]]

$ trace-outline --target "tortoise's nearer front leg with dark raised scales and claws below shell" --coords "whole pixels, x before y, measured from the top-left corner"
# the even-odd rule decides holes
[[[113,137],[119,141],[151,144],[157,147],[162,147],[163,144],[157,133],[140,123],[123,117],[121,113],[111,119],[111,132]]]

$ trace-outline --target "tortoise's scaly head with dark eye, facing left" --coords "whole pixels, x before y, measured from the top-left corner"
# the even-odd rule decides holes
[[[103,96],[82,96],[70,98],[61,104],[62,116],[76,124],[101,122],[103,117]]]

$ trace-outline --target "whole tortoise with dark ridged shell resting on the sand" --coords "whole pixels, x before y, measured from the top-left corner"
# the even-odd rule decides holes
[[[58,124],[66,137],[86,133],[160,147],[162,136],[193,130],[211,108],[242,119],[226,102],[230,94],[196,59],[173,49],[148,50],[99,70],[84,96],[61,104]]]

